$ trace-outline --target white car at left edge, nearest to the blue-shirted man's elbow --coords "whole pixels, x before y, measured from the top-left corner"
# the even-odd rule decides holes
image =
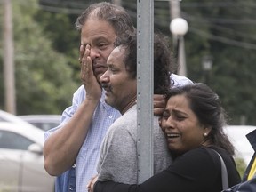
[[[0,191],[54,191],[55,178],[44,170],[43,145],[43,130],[0,122]]]

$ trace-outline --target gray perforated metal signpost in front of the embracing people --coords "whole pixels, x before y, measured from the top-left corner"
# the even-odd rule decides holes
[[[141,183],[153,175],[154,0],[137,1],[138,159]]]

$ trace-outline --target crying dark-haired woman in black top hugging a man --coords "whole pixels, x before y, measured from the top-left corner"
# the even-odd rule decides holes
[[[159,124],[173,163],[140,185],[97,181],[94,192],[220,192],[220,156],[229,186],[239,183],[234,148],[222,130],[226,118],[219,96],[205,84],[188,84],[172,88],[166,101]]]

